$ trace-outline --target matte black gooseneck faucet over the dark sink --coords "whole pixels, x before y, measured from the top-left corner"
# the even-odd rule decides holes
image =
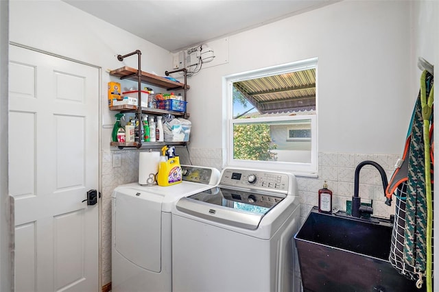
[[[359,165],[357,165],[357,168],[355,169],[355,178],[354,178],[354,195],[352,197],[352,210],[351,215],[353,217],[361,217],[361,213],[369,213],[372,214],[373,208],[369,206],[362,206],[361,205],[361,198],[358,196],[358,190],[359,190],[359,171],[361,170],[364,165],[372,165],[376,169],[378,169],[379,174],[381,174],[381,180],[383,181],[383,188],[384,188],[384,196],[385,196],[385,188],[387,188],[388,181],[387,181],[387,175],[385,174],[385,171],[381,165],[379,165],[375,161],[371,160],[365,160],[363,162],[360,162]]]

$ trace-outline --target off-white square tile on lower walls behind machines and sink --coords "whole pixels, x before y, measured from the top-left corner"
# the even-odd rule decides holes
[[[121,154],[121,167],[112,167],[114,154]],[[180,156],[181,164],[215,167],[219,170],[222,168],[220,148],[177,148],[176,154]],[[346,201],[353,196],[355,167],[359,162],[373,160],[379,163],[389,179],[398,158],[399,155],[319,153],[318,178],[297,177],[301,219],[304,220],[309,210],[318,205],[318,190],[325,180],[328,188],[333,191],[333,206],[346,210]],[[137,182],[138,175],[139,150],[102,151],[102,284],[111,281],[111,193],[120,184]],[[394,214],[394,206],[384,204],[383,186],[377,169],[366,166],[361,169],[359,177],[361,202],[373,199],[375,216],[388,218]]]

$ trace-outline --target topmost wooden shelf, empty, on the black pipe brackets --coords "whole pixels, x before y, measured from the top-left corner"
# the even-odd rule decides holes
[[[128,66],[123,66],[119,69],[112,70],[110,71],[110,75],[119,77],[120,79],[137,81],[137,69]],[[185,89],[184,83],[171,81],[165,77],[143,71],[141,71],[141,80],[142,82],[145,82],[145,84],[167,88],[167,90]],[[186,85],[186,89],[189,89],[189,85]]]

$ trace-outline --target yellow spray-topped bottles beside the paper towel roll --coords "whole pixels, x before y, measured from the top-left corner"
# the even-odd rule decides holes
[[[180,158],[174,155],[175,147],[164,146],[158,165],[157,184],[159,186],[171,186],[182,182]],[[167,152],[167,156],[166,156]]]

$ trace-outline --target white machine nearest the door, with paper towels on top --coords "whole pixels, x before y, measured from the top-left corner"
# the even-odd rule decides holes
[[[182,165],[183,181],[172,186],[137,182],[112,193],[112,291],[172,291],[171,205],[211,188],[219,171]]]

